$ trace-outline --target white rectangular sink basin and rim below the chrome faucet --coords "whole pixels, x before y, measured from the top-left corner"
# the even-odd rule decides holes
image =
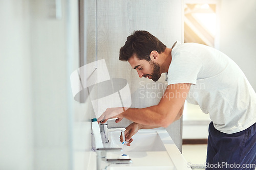
[[[109,170],[117,169],[191,169],[176,147],[172,138],[164,129],[139,130],[132,138],[131,146],[120,142],[121,132],[110,132],[111,148],[122,148],[122,152],[108,152],[106,158],[118,159],[119,155],[127,154],[133,161],[130,165],[112,164]]]

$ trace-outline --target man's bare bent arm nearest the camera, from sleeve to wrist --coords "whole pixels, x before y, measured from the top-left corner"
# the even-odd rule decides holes
[[[168,85],[158,105],[129,108],[119,116],[142,125],[167,127],[181,117],[189,89],[190,84]]]

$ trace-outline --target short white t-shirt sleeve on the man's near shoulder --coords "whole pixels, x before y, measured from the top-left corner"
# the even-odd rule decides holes
[[[203,64],[200,58],[186,51],[174,53],[168,69],[168,85],[177,83],[197,84]]]

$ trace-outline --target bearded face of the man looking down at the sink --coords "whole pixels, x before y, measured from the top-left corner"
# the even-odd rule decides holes
[[[161,77],[160,65],[152,60],[139,60],[136,56],[133,56],[128,62],[137,70],[140,78],[144,77],[156,82]]]

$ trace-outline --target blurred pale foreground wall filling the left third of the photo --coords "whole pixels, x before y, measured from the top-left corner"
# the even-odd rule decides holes
[[[0,169],[74,169],[74,150],[90,151],[89,107],[70,86],[77,3],[0,1]]]

